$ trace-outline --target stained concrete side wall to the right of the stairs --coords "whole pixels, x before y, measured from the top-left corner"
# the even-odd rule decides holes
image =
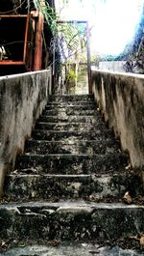
[[[92,82],[94,97],[132,167],[144,169],[144,75],[93,71]]]

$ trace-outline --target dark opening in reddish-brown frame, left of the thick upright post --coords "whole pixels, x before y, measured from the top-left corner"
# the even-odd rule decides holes
[[[0,34],[0,71],[32,71],[35,32],[31,15],[0,15]]]

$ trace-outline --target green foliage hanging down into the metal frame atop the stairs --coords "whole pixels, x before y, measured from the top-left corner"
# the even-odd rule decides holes
[[[52,52],[52,54],[54,51],[55,53],[59,53],[59,60],[57,58],[53,59],[54,63],[59,61],[58,73],[61,76],[65,76],[63,80],[65,80],[66,86],[68,86],[69,83],[75,84],[78,75],[76,74],[76,70],[70,68],[70,65],[72,63],[77,63],[78,67],[79,61],[82,61],[82,58],[84,58],[83,49],[86,46],[85,23],[59,23],[58,21],[60,20],[60,14],[57,13],[56,10],[54,10],[49,4],[44,4],[41,6],[40,0],[35,1],[36,8],[44,15],[45,21],[53,34],[53,39],[50,43],[49,50]],[[68,0],[63,0],[63,8],[68,2]],[[65,75],[63,75],[61,68],[63,64],[65,66]]]

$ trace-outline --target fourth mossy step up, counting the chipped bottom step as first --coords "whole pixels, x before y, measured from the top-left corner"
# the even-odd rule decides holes
[[[28,140],[26,142],[25,154],[33,153],[35,155],[45,154],[108,154],[120,152],[120,145],[115,140],[94,140],[80,141],[44,141]]]

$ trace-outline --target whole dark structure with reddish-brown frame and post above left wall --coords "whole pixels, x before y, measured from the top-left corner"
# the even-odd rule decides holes
[[[34,4],[27,10],[24,0],[22,9],[16,9],[18,14],[10,13],[7,11],[9,1],[4,2],[7,5],[4,12],[0,12],[0,75],[47,68],[51,63],[48,48],[53,35],[44,24],[43,14],[36,10]],[[46,1],[53,7],[52,0]],[[44,3],[40,0],[41,5]],[[2,7],[0,5],[0,11]]]

